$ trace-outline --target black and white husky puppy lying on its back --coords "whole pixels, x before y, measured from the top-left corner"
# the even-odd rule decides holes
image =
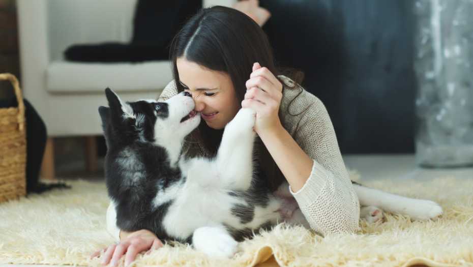
[[[237,252],[238,241],[283,221],[282,210],[289,209],[291,216],[294,208],[282,200],[291,196],[288,185],[275,197],[255,175],[254,110],[241,109],[227,124],[214,159],[186,158],[184,139],[200,123],[189,93],[165,102],[127,103],[109,88],[105,94],[109,107],[100,107],[99,113],[108,147],[106,183],[120,229],[148,229],[161,240],[192,243],[209,256],[228,257]],[[382,218],[381,209],[413,219],[436,219],[442,213],[432,201],[353,186],[364,206],[361,218],[370,223]],[[308,227],[298,211],[291,219]]]

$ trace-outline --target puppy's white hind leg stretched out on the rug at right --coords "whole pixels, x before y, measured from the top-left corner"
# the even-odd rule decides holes
[[[443,214],[442,207],[434,201],[394,195],[359,184],[353,184],[353,189],[361,206],[379,207],[385,212],[409,216],[414,220],[436,220]]]

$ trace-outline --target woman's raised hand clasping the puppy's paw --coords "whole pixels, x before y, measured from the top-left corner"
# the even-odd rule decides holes
[[[253,64],[253,72],[246,81],[247,92],[242,107],[256,111],[255,131],[263,132],[282,127],[278,111],[282,99],[282,83],[267,68]]]

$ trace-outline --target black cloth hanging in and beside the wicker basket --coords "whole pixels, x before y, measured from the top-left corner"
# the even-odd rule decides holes
[[[24,99],[24,105],[26,107],[26,193],[41,193],[52,188],[65,187],[63,183],[43,184],[38,182],[46,147],[46,126],[26,99]],[[16,97],[0,100],[0,108],[17,106]]]

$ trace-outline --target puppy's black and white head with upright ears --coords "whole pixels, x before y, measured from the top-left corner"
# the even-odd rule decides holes
[[[109,107],[99,107],[107,145],[120,147],[135,141],[168,146],[182,143],[200,122],[200,114],[189,93],[180,93],[167,101],[139,100],[124,102],[109,88],[105,90]]]

